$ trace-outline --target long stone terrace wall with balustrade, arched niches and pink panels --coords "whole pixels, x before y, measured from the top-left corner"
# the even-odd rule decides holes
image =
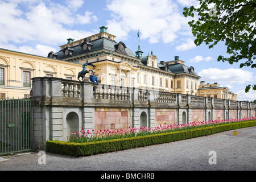
[[[68,140],[71,132],[127,129],[255,116],[252,102],[158,90],[93,84],[55,77],[32,78],[34,146]]]

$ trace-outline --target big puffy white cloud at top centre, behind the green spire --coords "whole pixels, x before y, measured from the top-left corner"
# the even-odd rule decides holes
[[[112,12],[112,19],[107,21],[109,31],[121,40],[129,39],[129,32],[136,36],[140,28],[141,39],[150,43],[174,42],[177,35],[189,30],[189,18],[177,11],[177,3],[170,0],[112,0],[106,5]]]

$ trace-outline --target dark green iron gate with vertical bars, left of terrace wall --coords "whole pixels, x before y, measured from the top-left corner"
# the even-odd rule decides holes
[[[32,149],[31,99],[0,98],[0,155]]]

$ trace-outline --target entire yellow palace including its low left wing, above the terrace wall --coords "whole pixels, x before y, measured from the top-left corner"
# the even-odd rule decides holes
[[[100,84],[208,96],[203,90],[199,94],[200,76],[179,56],[158,61],[152,51],[143,55],[140,45],[133,52],[125,43],[115,42],[116,36],[107,30],[102,26],[96,35],[80,40],[69,38],[59,52],[49,52],[47,57],[0,49],[1,97],[28,98],[32,77],[77,80],[83,64],[96,71]]]

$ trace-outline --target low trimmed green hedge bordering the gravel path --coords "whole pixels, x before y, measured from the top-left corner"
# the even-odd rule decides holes
[[[244,127],[256,126],[256,121],[246,121],[229,123],[224,125],[202,127],[191,130],[175,131],[170,133],[152,134],[142,137],[113,139],[88,143],[61,142],[59,140],[47,141],[46,150],[49,152],[70,155],[70,156],[89,156],[105,152],[126,150],[129,148],[150,146],[174,142],[177,140],[203,137],[206,135],[216,134],[228,130],[236,130]]]

